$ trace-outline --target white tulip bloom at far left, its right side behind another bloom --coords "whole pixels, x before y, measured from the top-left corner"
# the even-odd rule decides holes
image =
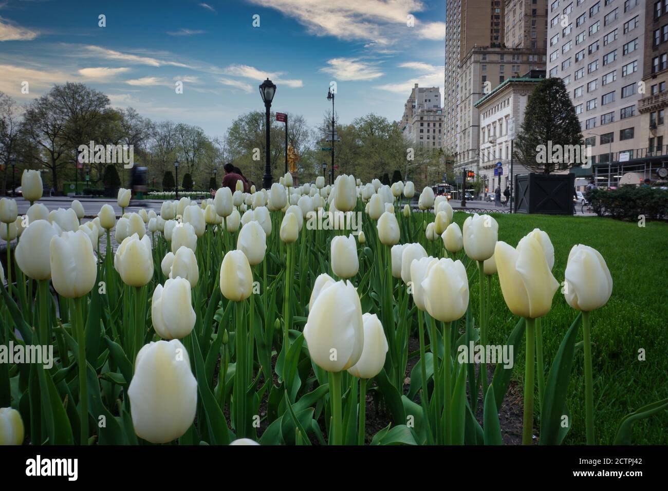
[[[31,222],[16,247],[14,259],[25,275],[34,280],[51,278],[51,237],[59,235],[59,226],[47,220]]]

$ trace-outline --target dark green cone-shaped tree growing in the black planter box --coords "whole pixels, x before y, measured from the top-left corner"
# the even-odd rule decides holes
[[[566,86],[556,77],[540,81],[529,96],[522,129],[515,138],[514,158],[524,167],[544,174],[580,165],[572,152],[562,154],[554,162],[547,155],[548,142],[552,148],[560,146],[563,150],[577,146],[577,152],[585,143]]]

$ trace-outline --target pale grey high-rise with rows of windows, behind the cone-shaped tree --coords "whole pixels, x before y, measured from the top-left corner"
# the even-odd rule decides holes
[[[548,76],[564,81],[595,164],[633,159],[643,146],[644,7],[640,0],[550,0]]]

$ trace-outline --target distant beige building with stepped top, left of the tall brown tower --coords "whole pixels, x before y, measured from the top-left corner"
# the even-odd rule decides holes
[[[404,138],[415,147],[442,147],[443,110],[438,87],[418,87],[415,84],[403,106],[399,129]]]

